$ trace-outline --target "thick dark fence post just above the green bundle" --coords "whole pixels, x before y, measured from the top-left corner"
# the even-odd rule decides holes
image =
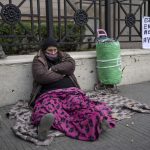
[[[108,36],[111,35],[110,20],[111,20],[111,7],[109,4],[109,0],[105,0],[105,30]]]

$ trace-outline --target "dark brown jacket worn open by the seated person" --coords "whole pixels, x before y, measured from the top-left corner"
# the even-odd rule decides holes
[[[75,87],[80,88],[74,76],[75,60],[69,54],[61,51],[58,51],[58,57],[61,60],[60,63],[50,68],[48,67],[47,59],[42,50],[34,57],[32,63],[34,81],[29,106],[35,102],[43,85],[59,81],[66,75],[73,81]]]

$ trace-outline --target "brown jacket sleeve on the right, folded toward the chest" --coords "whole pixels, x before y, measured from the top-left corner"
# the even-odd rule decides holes
[[[63,53],[62,61],[51,67],[52,71],[63,75],[71,75],[75,70],[75,60],[67,53]]]

